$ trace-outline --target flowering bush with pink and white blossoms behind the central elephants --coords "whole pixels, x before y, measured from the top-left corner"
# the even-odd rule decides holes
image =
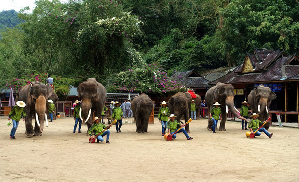
[[[169,80],[167,73],[159,65],[145,65],[115,74],[109,80],[107,91],[166,93],[177,90],[177,82]]]

